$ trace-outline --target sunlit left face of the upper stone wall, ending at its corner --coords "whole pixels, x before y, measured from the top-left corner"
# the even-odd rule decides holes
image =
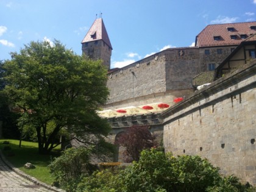
[[[162,52],[108,75],[107,104],[166,91],[165,57]]]

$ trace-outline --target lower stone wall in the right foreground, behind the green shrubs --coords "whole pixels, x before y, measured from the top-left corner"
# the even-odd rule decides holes
[[[200,155],[256,185],[256,62],[164,112],[163,143],[174,155]]]

